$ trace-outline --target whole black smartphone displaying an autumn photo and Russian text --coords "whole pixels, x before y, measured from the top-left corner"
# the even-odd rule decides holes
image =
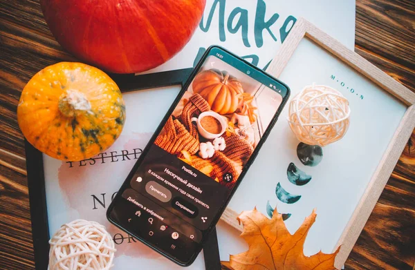
[[[208,48],[109,205],[108,220],[173,262],[192,264],[289,95],[263,70]]]

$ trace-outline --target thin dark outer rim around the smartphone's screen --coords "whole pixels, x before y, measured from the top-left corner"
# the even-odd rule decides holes
[[[232,57],[235,57],[235,58],[240,59],[241,61],[245,62],[250,68],[257,70],[260,73],[265,73],[264,70],[261,70],[260,68],[257,68],[257,66],[254,66],[254,65],[250,64],[248,61],[246,61],[244,59],[241,59],[241,57],[238,57],[237,55],[234,55],[232,52],[226,50],[225,48],[222,48],[221,46],[210,46],[208,49],[206,49],[206,51],[203,54],[203,56],[201,57],[201,59],[199,59],[198,64],[196,65],[196,67],[194,67],[194,69],[192,70],[192,73],[190,74],[190,76],[187,76],[187,78],[194,78],[196,76],[196,73],[198,73],[198,71],[201,68],[201,66],[203,65],[205,59],[208,57],[210,50],[212,50],[213,48],[217,48],[219,50],[223,50],[223,52],[227,53],[228,55],[231,55]],[[270,124],[268,124],[268,127],[266,128],[266,131],[264,132],[264,135],[261,136],[261,139],[259,140],[259,143],[255,147],[254,152],[252,153],[250,159],[248,160],[248,162],[244,166],[242,173],[239,175],[237,183],[235,184],[234,188],[230,192],[230,195],[228,197],[228,202],[226,202],[225,204],[223,204],[223,206],[221,207],[221,209],[219,209],[218,214],[216,215],[216,217],[212,220],[212,223],[211,224],[215,224],[215,225],[214,226],[210,226],[206,230],[206,231],[208,231],[209,238],[212,237],[212,233],[215,233],[216,234],[216,230],[214,229],[215,226],[216,226],[216,223],[219,222],[219,219],[221,218],[221,215],[222,215],[223,211],[225,211],[226,206],[228,206],[228,203],[232,199],[235,191],[237,191],[238,186],[241,183],[241,181],[243,180],[243,177],[246,175],[246,172],[250,168],[250,165],[255,161],[255,158],[257,157],[257,154],[259,153],[259,150],[261,149],[262,144],[264,144],[264,142],[266,141],[266,139],[267,139],[270,131],[275,126],[275,123],[277,122],[279,115],[281,114],[284,106],[286,105],[286,103],[288,101],[288,98],[290,97],[291,90],[290,90],[290,88],[286,84],[284,84],[282,81],[279,81],[279,79],[277,79],[277,78],[275,78],[275,77],[273,77],[273,76],[271,76],[269,74],[266,74],[266,75],[268,75],[269,77],[271,77],[272,79],[274,79],[275,81],[277,81],[279,84],[281,84],[282,86],[284,86],[286,88],[286,93],[285,93],[284,96],[282,96],[282,103],[280,104],[280,106],[279,106],[277,112],[275,113],[273,119],[271,120]],[[107,220],[109,220],[109,222],[111,222],[111,224],[113,224],[114,226],[117,226],[119,229],[121,229],[122,231],[128,233],[129,235],[135,235],[135,234],[133,232],[127,231],[127,229],[122,228],[120,226],[120,224],[116,224],[116,222],[114,222],[113,220],[111,220],[110,213],[111,213],[111,210],[113,209],[113,204],[114,204],[114,202],[116,202],[116,200],[120,200],[120,197],[122,196],[122,192],[120,192],[120,191],[124,191],[127,188],[127,186],[130,185],[130,180],[133,177],[134,173],[136,173],[136,171],[138,169],[138,166],[140,166],[140,164],[142,163],[142,160],[144,159],[145,155],[149,151],[150,146],[152,144],[154,144],[154,141],[156,140],[156,137],[158,136],[158,134],[162,130],[163,126],[167,122],[168,117],[170,115],[172,115],[174,108],[176,108],[178,102],[180,102],[181,97],[183,96],[183,94],[185,93],[185,91],[187,90],[187,88],[190,86],[191,83],[192,83],[192,79],[189,79],[189,80],[187,80],[185,82],[185,84],[183,84],[182,90],[180,91],[180,93],[178,93],[176,99],[174,100],[173,104],[170,106],[170,108],[167,111],[165,117],[163,117],[162,121],[158,125],[158,128],[156,129],[156,131],[154,131],[154,135],[151,136],[151,139],[149,140],[149,143],[142,150],[142,153],[141,153],[140,157],[138,157],[138,160],[136,161],[136,164],[134,164],[134,166],[131,169],[131,171],[130,171],[129,175],[127,176],[126,180],[124,180],[124,182],[123,182],[122,186],[120,187],[120,190],[118,191],[116,197],[114,197],[114,199],[111,201],[111,204],[107,208]],[[135,237],[138,238],[137,236],[135,236]],[[156,249],[156,247],[152,247],[151,244],[149,244],[146,240],[144,240],[142,238],[140,238],[138,240],[140,240],[140,242],[146,244],[147,247],[150,247],[151,249],[153,249],[155,251],[158,251]],[[205,247],[205,244],[207,242],[212,243],[212,241],[208,241],[208,238],[205,238],[205,240],[203,240],[201,242],[201,248],[200,249],[197,249],[197,252],[190,259],[190,261],[188,263],[186,263],[186,264],[183,264],[182,262],[178,262],[178,260],[176,260],[176,258],[169,257],[167,254],[163,254],[163,255],[165,255],[166,258],[168,258],[169,260],[172,260],[176,264],[179,264],[179,265],[181,265],[183,267],[187,267],[187,266],[189,266],[190,264],[192,264],[194,262],[194,260],[196,259],[197,255],[199,255],[202,247],[203,246]],[[207,250],[209,250],[209,249],[207,249]],[[158,251],[158,252],[161,253],[161,250]],[[205,260],[205,262],[206,262],[206,260]],[[212,268],[208,268],[208,269],[212,269]]]

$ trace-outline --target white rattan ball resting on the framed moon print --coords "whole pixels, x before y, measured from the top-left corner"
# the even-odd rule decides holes
[[[326,146],[349,128],[349,101],[329,86],[306,86],[290,102],[288,124],[305,144]]]

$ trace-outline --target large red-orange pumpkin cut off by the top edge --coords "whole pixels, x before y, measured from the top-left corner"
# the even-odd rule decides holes
[[[40,6],[68,52],[111,73],[138,73],[160,66],[190,41],[205,2],[40,0]]]

